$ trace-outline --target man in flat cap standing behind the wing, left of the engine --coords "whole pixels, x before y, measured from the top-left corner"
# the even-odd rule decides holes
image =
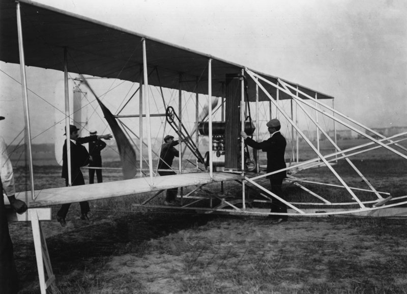
[[[167,135],[164,137],[164,144],[161,146],[160,159],[158,162],[158,174],[160,176],[175,175],[175,171],[171,169],[174,157],[179,157],[180,152],[174,148],[179,144],[174,137]],[[177,203],[178,188],[167,189],[164,205],[178,206]]]

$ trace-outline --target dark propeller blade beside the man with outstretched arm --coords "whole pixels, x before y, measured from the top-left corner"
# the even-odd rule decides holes
[[[119,126],[113,114],[106,108],[106,106],[97,97],[103,115],[110,126],[114,139],[118,144],[120,160],[122,162],[122,171],[124,179],[132,179],[136,175],[136,152],[131,146],[122,128]]]

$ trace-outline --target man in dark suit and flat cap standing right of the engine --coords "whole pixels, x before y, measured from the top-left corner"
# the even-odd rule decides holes
[[[267,123],[267,127],[271,137],[263,142],[254,141],[249,138],[244,131],[241,131],[240,135],[245,139],[245,143],[253,149],[261,149],[267,152],[267,173],[271,173],[286,168],[284,153],[287,142],[280,133],[281,125],[278,119],[270,120]],[[284,199],[284,194],[281,186],[286,176],[285,171],[267,176],[267,178],[270,179],[271,192],[282,199]],[[287,213],[287,206],[280,200],[273,198],[270,212]],[[270,217],[275,223],[281,223],[287,220],[287,216],[271,215]]]

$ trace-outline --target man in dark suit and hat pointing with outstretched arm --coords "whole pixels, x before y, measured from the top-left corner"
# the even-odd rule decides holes
[[[71,151],[71,181],[72,183],[69,183],[69,178],[68,178],[68,152],[67,152],[67,141],[65,140],[64,147],[62,149],[62,178],[65,178],[65,184],[66,186],[72,185],[72,186],[78,186],[78,185],[84,185],[85,180],[83,179],[83,174],[80,171],[80,167],[83,167],[85,165],[88,165],[89,163],[89,153],[86,150],[84,146],[81,144],[83,143],[89,143],[91,141],[95,141],[98,139],[105,139],[105,140],[110,140],[112,136],[110,134],[108,135],[102,135],[102,136],[89,136],[89,137],[83,137],[80,138],[78,135],[78,128],[74,125],[69,125],[69,132],[70,132],[70,151]],[[81,220],[86,220],[88,218],[88,212],[90,211],[89,203],[88,201],[82,201],[79,202],[80,205],[80,219]],[[71,206],[71,203],[66,203],[62,204],[61,209],[56,213],[56,220],[61,223],[63,227],[66,226],[66,221],[65,218],[67,216],[69,207]]]

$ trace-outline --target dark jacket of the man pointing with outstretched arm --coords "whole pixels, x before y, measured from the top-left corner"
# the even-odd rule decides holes
[[[83,137],[76,139],[76,144],[70,141],[71,143],[71,178],[72,185],[84,184],[84,179],[80,167],[83,166],[83,158],[80,156],[80,147],[79,145],[83,143],[89,143],[91,141],[96,141],[98,138],[97,135],[92,135],[89,137]],[[64,147],[62,148],[62,178],[68,179],[68,152],[67,152],[67,140],[65,140]],[[82,183],[83,182],[83,183]]]

